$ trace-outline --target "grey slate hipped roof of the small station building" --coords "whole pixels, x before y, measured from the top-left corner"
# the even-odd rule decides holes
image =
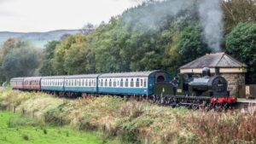
[[[241,68],[247,67],[247,65],[234,59],[232,56],[225,53],[207,54],[196,60],[189,62],[188,64],[181,66],[180,69],[190,68],[203,68],[203,67],[222,67],[222,68]]]

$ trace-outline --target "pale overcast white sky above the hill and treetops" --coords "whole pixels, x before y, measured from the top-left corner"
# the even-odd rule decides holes
[[[48,32],[108,22],[140,0],[0,0],[0,32]]]

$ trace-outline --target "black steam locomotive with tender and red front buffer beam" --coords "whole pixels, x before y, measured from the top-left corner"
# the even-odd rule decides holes
[[[194,73],[178,74],[178,84],[155,84],[153,100],[169,106],[226,107],[236,102],[227,90],[228,82],[215,68],[211,76],[210,69],[202,69],[202,76]]]

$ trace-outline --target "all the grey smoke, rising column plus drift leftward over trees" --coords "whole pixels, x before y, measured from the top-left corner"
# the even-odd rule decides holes
[[[168,2],[166,4],[154,3],[154,7],[147,14],[138,20],[144,26],[158,26],[158,22],[166,15],[175,16],[179,12],[191,8],[197,10],[200,18],[200,25],[203,28],[202,38],[212,52],[221,51],[220,45],[223,41],[223,11],[220,0],[129,0],[132,2]],[[195,13],[196,14],[196,13]],[[125,18],[127,21],[132,17]]]

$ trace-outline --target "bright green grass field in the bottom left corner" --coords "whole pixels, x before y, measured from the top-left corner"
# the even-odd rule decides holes
[[[12,119],[20,118],[13,112],[0,111],[0,143],[1,144],[100,144],[96,133],[79,132],[69,127],[30,126],[11,124]],[[32,119],[32,118],[30,118]],[[22,121],[22,120],[21,120]],[[31,124],[31,123],[30,123]],[[34,124],[37,124],[34,123]],[[32,125],[34,125],[32,124]],[[109,142],[110,143],[110,142]]]

